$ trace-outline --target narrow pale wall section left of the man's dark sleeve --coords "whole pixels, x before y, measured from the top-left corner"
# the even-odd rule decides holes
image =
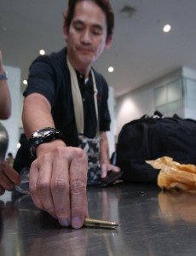
[[[8,120],[1,120],[9,134],[9,148],[8,152],[16,154],[17,143],[19,141],[19,127],[20,127],[20,68],[4,66],[8,72],[9,91],[12,99],[12,114]]]

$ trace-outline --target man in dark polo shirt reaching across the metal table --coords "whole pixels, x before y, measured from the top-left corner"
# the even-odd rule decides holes
[[[38,57],[30,68],[22,113],[26,136],[37,156],[30,169],[30,193],[35,205],[58,218],[62,226],[81,228],[88,216],[88,160],[84,150],[78,148],[72,73],[77,75],[76,84],[83,100],[84,136],[95,137],[99,125],[101,176],[106,177],[109,170],[119,171],[117,166],[110,165],[108,155],[107,83],[91,68],[102,51],[110,47],[112,29],[113,13],[107,0],[70,0],[63,27],[67,48]]]

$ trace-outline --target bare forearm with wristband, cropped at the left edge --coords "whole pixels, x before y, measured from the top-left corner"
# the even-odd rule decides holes
[[[5,74],[3,56],[0,50],[0,75]],[[6,79],[0,79],[0,119],[9,119],[11,115],[11,96]]]

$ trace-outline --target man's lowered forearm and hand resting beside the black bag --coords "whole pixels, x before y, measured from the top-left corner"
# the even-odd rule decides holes
[[[107,172],[119,172],[120,169],[118,166],[112,166],[109,159],[109,145],[107,141],[107,132],[101,131],[101,156],[100,156],[100,162],[101,162],[101,177],[107,177]]]

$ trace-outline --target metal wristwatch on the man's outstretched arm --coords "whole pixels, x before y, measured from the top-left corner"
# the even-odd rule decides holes
[[[33,158],[36,158],[36,148],[38,145],[43,143],[50,143],[54,140],[61,139],[65,141],[63,134],[61,131],[47,127],[37,131],[34,131],[29,138],[29,143],[31,144],[30,152]]]

